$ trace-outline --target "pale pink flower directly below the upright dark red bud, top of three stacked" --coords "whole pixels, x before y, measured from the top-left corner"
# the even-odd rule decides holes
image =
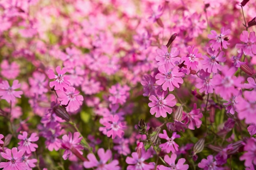
[[[180,57],[177,57],[180,50],[177,50],[177,48],[172,48],[171,53],[169,53],[167,47],[163,45],[162,49],[157,49],[157,54],[155,60],[158,61],[158,66],[166,65],[168,68],[172,68],[180,62]]]

